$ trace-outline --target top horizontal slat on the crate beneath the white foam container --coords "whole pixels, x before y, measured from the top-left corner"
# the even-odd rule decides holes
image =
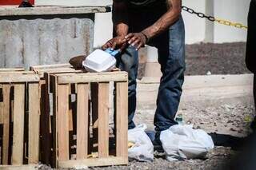
[[[64,73],[57,74],[59,84],[67,83],[87,83],[87,82],[109,82],[127,81],[126,72],[107,72],[107,73]]]

